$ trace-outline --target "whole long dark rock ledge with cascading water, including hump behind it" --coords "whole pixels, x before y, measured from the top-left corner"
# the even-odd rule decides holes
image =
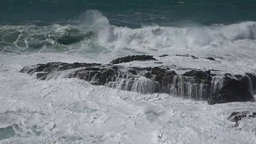
[[[127,56],[113,60],[106,65],[51,62],[27,66],[20,72],[35,75],[41,80],[58,76],[79,78],[94,85],[104,85],[142,94],[174,94],[183,98],[207,100],[208,104],[255,101],[252,96],[256,90],[254,74],[216,76],[216,74],[211,74],[210,70],[190,70],[184,74],[176,74],[175,71],[161,66],[139,68],[113,65],[133,60],[156,59],[153,56]]]

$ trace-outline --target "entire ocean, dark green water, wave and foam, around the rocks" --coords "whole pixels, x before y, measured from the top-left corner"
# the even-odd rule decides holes
[[[255,102],[210,106],[75,78],[42,81],[19,70],[152,55],[163,64],[118,66],[256,73],[255,14],[253,0],[0,0],[0,142],[254,144],[256,120],[234,128],[227,117],[256,111]]]

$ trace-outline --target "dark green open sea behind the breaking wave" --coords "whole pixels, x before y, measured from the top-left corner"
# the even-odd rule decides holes
[[[98,10],[111,23],[132,28],[256,21],[254,0],[1,0],[0,24],[74,21],[87,10]]]

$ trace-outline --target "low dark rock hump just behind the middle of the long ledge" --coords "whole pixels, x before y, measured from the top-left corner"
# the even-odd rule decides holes
[[[110,64],[120,64],[123,62],[132,62],[134,60],[145,61],[145,60],[156,60],[156,59],[153,58],[153,56],[146,56],[146,55],[126,56],[122,58],[117,58],[112,62],[110,62]]]

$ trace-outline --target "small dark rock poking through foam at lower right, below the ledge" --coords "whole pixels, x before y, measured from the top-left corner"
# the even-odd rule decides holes
[[[238,126],[238,121],[242,120],[242,118],[255,118],[256,113],[253,112],[252,114],[249,111],[244,112],[232,112],[231,115],[228,117],[228,120],[232,122],[236,122],[235,127]]]

